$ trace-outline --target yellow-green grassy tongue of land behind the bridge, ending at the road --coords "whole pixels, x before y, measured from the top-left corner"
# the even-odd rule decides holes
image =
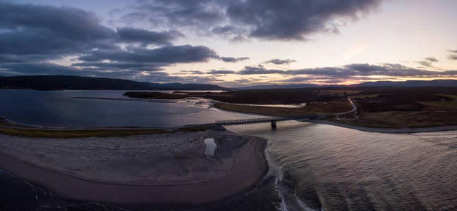
[[[346,100],[310,102],[303,108],[284,108],[269,106],[250,106],[232,103],[215,103],[215,108],[230,110],[240,113],[255,113],[262,115],[297,116],[307,114],[342,113],[351,110],[352,106]]]

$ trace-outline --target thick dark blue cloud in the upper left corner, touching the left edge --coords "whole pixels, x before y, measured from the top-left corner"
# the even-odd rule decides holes
[[[114,49],[114,30],[77,8],[0,1],[0,54],[61,57],[87,49]]]

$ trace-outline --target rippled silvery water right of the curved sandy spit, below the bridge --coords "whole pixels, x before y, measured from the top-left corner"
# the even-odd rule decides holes
[[[303,122],[229,129],[269,139],[286,183],[312,207],[457,208],[457,132],[379,134]]]

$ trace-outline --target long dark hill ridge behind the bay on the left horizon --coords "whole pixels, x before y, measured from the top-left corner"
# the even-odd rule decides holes
[[[0,77],[0,89],[221,90],[226,88],[212,84],[154,84],[102,77],[32,75]]]

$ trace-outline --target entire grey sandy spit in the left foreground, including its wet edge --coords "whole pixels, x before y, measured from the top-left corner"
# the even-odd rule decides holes
[[[121,151],[123,152],[121,157],[118,156],[118,151],[114,151],[113,157],[106,155],[113,151],[110,148],[104,151],[103,148],[98,147],[97,151],[92,153],[94,156],[87,153],[87,147],[90,145],[84,145],[84,143],[103,143],[110,138],[56,141],[0,135],[0,168],[49,188],[63,198],[123,205],[179,207],[202,205],[248,191],[252,186],[260,183],[268,170],[264,156],[266,147],[264,139],[211,129],[204,132],[205,134],[195,136],[195,133],[198,132],[178,134],[179,137],[196,137],[195,143],[191,143],[192,141],[189,141],[191,139],[183,139],[190,143],[186,145],[188,150],[181,148],[166,153],[167,151],[164,151],[166,147],[162,146],[162,150],[157,152],[154,151],[157,145],[152,144],[152,147],[149,145],[146,148],[142,147],[141,151],[144,152],[147,147],[151,147],[150,150],[155,156],[142,156],[147,154],[142,153],[135,154],[133,158],[129,155],[130,159],[126,159],[126,156],[127,152],[132,153],[131,148],[128,148],[128,151]],[[148,139],[144,136],[149,135],[140,136],[142,143],[147,143]],[[201,153],[205,149],[202,150],[200,147],[202,137],[215,139],[217,148],[213,156],[209,157]],[[160,141],[160,135],[155,134],[153,138],[156,142]],[[168,139],[171,138],[173,136],[168,136]],[[122,139],[118,141],[128,143],[129,139],[138,139],[138,137],[126,136]],[[71,146],[73,151],[80,152],[74,155],[61,153],[59,150],[56,150],[54,155],[50,155],[53,151],[49,149],[54,149],[55,146],[63,148],[63,152],[68,152],[68,148],[65,147],[67,143],[83,143],[86,147],[80,150],[82,147]],[[132,144],[134,143],[136,142],[133,141]],[[34,144],[37,147],[33,146]],[[49,154],[43,156],[43,152]],[[138,151],[135,152],[138,153]],[[103,156],[95,156],[96,154]],[[74,169],[71,165],[79,163],[75,162],[78,157],[83,165],[78,166],[80,169]],[[162,158],[162,160],[151,162],[154,158]],[[125,162],[125,160],[129,161]],[[169,164],[166,169],[163,165],[158,165],[163,164],[162,161]],[[136,163],[139,163],[138,167],[135,167]],[[111,167],[103,168],[104,165]],[[157,171],[154,171],[156,169]],[[109,171],[112,171],[114,179],[106,176],[110,175]],[[176,177],[176,174],[180,177]],[[200,175],[206,176],[200,178]]]

